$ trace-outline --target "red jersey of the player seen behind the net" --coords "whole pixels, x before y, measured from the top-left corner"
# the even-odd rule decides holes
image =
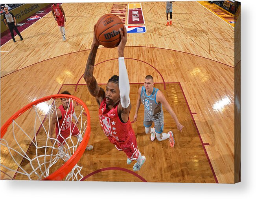
[[[61,131],[69,131],[70,130],[70,124],[72,122],[71,121],[72,120],[72,114],[74,113],[73,104],[72,104],[72,102],[70,102],[68,111],[64,110],[63,105],[59,106],[58,108],[59,108],[59,110],[61,110],[61,119],[58,119],[59,120],[59,126],[58,126],[58,122],[56,122],[56,128],[59,131],[59,127],[61,128],[61,126],[63,124],[63,126],[61,128]]]

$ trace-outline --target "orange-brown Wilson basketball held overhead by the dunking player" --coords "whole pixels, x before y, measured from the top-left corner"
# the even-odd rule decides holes
[[[121,41],[119,29],[123,31],[123,23],[120,18],[113,14],[106,14],[99,18],[95,34],[99,43],[107,48],[118,46]]]

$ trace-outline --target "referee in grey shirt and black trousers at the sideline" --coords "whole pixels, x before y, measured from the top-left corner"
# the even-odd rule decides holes
[[[11,37],[13,38],[13,42],[16,42],[15,41],[15,38],[14,38],[14,33],[13,33],[13,29],[15,30],[15,32],[18,34],[18,36],[20,36],[20,40],[22,41],[23,38],[22,36],[20,35],[20,32],[18,31],[18,28],[16,26],[16,19],[15,19],[15,16],[13,15],[13,13],[10,13],[8,11],[8,8],[5,7],[4,8],[4,11],[6,12],[4,14],[4,22],[6,23],[6,26],[9,27],[10,29],[10,32],[11,32]]]

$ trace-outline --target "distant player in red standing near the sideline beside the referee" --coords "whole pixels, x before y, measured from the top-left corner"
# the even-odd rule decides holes
[[[55,20],[58,23],[59,29],[61,31],[61,34],[63,36],[63,41],[66,40],[66,31],[65,31],[65,22],[66,22],[66,16],[64,13],[64,10],[61,5],[59,4],[53,4],[52,5],[52,15],[55,18]]]

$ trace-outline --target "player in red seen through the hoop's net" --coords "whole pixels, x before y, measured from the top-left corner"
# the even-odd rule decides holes
[[[63,91],[61,94],[70,95],[68,91]],[[79,124],[74,108],[76,104],[72,102],[69,103],[68,98],[61,99],[62,105],[57,108],[57,116],[56,113],[53,113],[52,121],[50,123],[50,138],[53,137],[54,126],[56,124],[55,133],[57,138],[57,144],[59,148],[59,156],[67,161],[69,159],[68,154],[64,154],[63,146],[66,143],[66,138],[69,137],[70,133],[72,136],[75,136],[78,142],[83,140],[81,133],[79,132],[77,126],[72,122],[72,117],[76,120],[76,123]],[[58,122],[57,122],[58,120]],[[61,130],[59,130],[61,128]],[[55,140],[51,139],[53,143]],[[87,145],[86,150],[92,150],[92,145]]]

